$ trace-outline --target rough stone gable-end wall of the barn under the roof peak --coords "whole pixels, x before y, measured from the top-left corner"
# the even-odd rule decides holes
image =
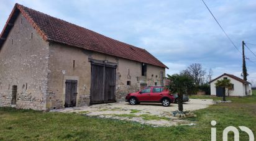
[[[21,14],[0,50],[0,106],[45,110],[48,81],[48,43]]]

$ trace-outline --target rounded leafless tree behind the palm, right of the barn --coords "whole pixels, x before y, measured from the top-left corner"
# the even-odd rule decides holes
[[[206,71],[203,69],[202,65],[199,63],[193,63],[184,71],[184,73],[189,73],[190,76],[194,79],[196,85],[203,84],[206,80]]]

